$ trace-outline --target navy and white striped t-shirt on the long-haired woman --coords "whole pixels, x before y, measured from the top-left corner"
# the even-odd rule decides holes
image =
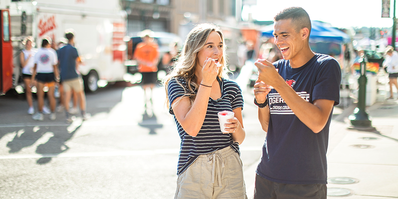
[[[168,98],[170,101],[170,113],[174,115],[178,133],[181,138],[180,155],[177,166],[177,175],[182,174],[199,155],[212,153],[218,149],[231,146],[240,155],[239,144],[232,140],[230,133],[222,133],[218,122],[217,112],[223,110],[232,111],[235,108],[243,108],[243,97],[239,86],[232,81],[217,78],[221,88],[221,98],[208,99],[206,116],[197,136],[191,136],[178,122],[171,107],[174,100],[184,96],[184,88],[175,79],[168,84]],[[188,90],[186,80],[178,81]],[[198,91],[195,91],[197,93]]]

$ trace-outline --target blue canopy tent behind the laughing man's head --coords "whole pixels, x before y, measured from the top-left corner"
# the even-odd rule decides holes
[[[345,44],[350,42],[350,37],[343,31],[331,27],[327,23],[321,21],[311,21],[311,33],[309,34],[309,42],[331,42]],[[268,25],[262,29],[264,37],[274,37],[274,24]]]

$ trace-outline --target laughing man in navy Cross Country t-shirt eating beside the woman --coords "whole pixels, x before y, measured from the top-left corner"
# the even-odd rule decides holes
[[[326,199],[326,150],[341,71],[332,57],[311,51],[310,31],[304,9],[284,9],[274,18],[275,44],[284,59],[255,63],[255,104],[267,132],[255,199]]]

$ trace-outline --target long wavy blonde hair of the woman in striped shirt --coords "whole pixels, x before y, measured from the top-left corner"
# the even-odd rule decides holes
[[[195,75],[195,71],[198,64],[197,56],[199,51],[203,49],[207,41],[207,38],[212,31],[215,31],[220,35],[223,44],[222,58],[221,60],[218,60],[218,63],[221,64],[221,67],[218,70],[217,76],[219,78],[227,77],[227,73],[229,72],[229,70],[226,66],[227,64],[226,55],[225,55],[226,46],[221,29],[215,24],[202,23],[195,26],[194,29],[190,31],[185,41],[183,50],[181,54],[178,56],[176,63],[172,66],[171,72],[163,79],[163,85],[166,88],[167,96],[169,95],[167,91],[170,80],[172,79],[177,80],[182,78],[186,80],[187,85],[183,86],[179,81],[177,81],[177,83],[180,84],[185,90],[185,94],[183,97],[189,97],[191,100],[191,104],[194,103],[194,100],[196,98],[195,90],[199,89],[199,84],[197,83],[198,79]],[[185,88],[188,88],[188,90],[186,90]],[[167,98],[167,104],[169,104],[169,98]]]

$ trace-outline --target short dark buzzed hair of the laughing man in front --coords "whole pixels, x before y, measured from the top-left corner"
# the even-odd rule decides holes
[[[274,17],[274,21],[282,19],[292,19],[292,24],[296,26],[296,32],[299,32],[302,28],[308,28],[309,33],[311,32],[311,20],[302,7],[285,8]]]

